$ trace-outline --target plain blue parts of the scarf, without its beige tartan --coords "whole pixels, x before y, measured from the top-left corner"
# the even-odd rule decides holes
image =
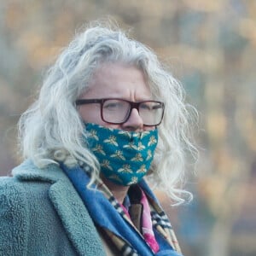
[[[181,254],[172,249],[155,229],[154,233],[156,240],[160,245],[160,251],[154,254],[148,244],[144,241],[143,236],[141,236],[135,230],[134,226],[127,222],[120,214],[120,212],[122,212],[121,207],[116,206],[116,200],[113,196],[107,199],[102,191],[96,189],[96,185],[93,185],[92,188],[88,189],[87,185],[90,182],[90,177],[81,167],[77,166],[70,169],[61,164],[61,168],[66,172],[67,177],[72,181],[75,189],[77,189],[96,226],[102,227],[103,230],[109,230],[114,236],[119,236],[126,241],[128,247],[132,248],[132,253],[129,255],[181,256]],[[139,183],[139,186],[151,199],[157,202],[154,194],[143,180]],[[160,216],[157,218],[160,218]],[[160,219],[160,222],[165,221],[166,225],[170,225],[169,221]],[[172,228],[171,225],[170,228]],[[125,253],[123,252],[120,255],[125,255]]]

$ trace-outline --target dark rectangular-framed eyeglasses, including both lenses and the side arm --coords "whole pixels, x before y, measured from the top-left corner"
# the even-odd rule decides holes
[[[77,106],[93,103],[101,104],[102,120],[115,125],[124,124],[129,119],[133,108],[137,109],[143,119],[143,125],[160,125],[165,110],[165,104],[158,101],[130,102],[119,98],[80,99],[76,101]]]

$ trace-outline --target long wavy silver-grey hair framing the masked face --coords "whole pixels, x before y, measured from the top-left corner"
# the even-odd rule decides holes
[[[93,170],[92,182],[98,177],[99,163],[84,147],[84,123],[74,102],[88,90],[91,76],[106,62],[139,68],[148,80],[154,99],[165,102],[159,143],[148,178],[174,202],[190,200],[192,195],[183,190],[182,185],[185,156],[196,151],[189,137],[190,110],[193,108],[184,103],[183,87],[163,67],[154,52],[128,38],[118,27],[88,26],[63,49],[49,68],[38,100],[20,117],[23,156],[32,159],[38,167],[58,164],[60,160],[72,166],[79,161]]]

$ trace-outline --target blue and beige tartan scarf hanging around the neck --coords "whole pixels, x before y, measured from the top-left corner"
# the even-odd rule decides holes
[[[89,166],[81,165],[68,168],[61,163],[61,168],[77,189],[96,226],[101,227],[113,241],[120,255],[182,255],[166,213],[161,209],[159,202],[144,181],[138,183],[138,186],[147,196],[152,230],[154,230],[155,239],[160,247],[158,253],[155,253],[154,249],[150,247],[150,242],[148,243],[140,230],[137,230],[124,207],[114,198],[100,178],[90,189],[87,188],[90,183]]]

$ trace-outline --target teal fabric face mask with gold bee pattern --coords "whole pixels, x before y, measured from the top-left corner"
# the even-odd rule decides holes
[[[148,172],[158,142],[158,131],[123,131],[87,123],[88,146],[113,183],[138,183]]]

